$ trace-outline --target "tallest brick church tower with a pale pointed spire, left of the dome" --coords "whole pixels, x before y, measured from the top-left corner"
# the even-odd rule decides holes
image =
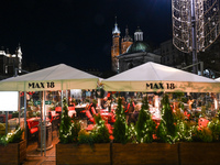
[[[111,69],[118,72],[119,62],[117,56],[120,55],[120,30],[118,28],[117,21],[112,31],[112,46],[111,46]]]

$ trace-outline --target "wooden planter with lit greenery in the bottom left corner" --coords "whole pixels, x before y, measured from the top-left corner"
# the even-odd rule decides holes
[[[21,164],[26,158],[26,141],[23,130],[16,128],[12,133],[0,136],[0,164]]]

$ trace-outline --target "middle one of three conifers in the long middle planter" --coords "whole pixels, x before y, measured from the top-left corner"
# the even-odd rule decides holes
[[[136,122],[136,140],[139,143],[151,143],[153,141],[153,134],[155,133],[155,122],[152,120],[148,111],[147,97],[142,100],[142,108],[139,113],[139,120]]]

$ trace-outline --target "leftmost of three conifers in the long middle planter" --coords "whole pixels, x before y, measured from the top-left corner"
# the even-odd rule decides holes
[[[122,107],[122,99],[118,99],[118,107],[116,110],[116,122],[113,129],[113,138],[116,143],[125,144],[128,142],[128,125],[125,123],[125,113]]]

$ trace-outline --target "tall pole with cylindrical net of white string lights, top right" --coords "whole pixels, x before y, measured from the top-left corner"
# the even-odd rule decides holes
[[[173,44],[193,54],[198,74],[197,53],[205,52],[219,36],[219,0],[172,0]]]

